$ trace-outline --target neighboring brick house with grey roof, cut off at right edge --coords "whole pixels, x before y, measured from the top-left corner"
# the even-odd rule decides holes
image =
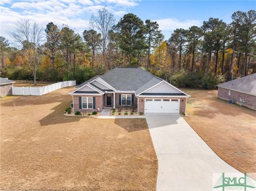
[[[219,84],[218,97],[256,110],[256,73]]]

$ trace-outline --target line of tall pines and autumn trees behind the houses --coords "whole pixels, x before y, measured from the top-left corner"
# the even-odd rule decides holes
[[[118,66],[142,67],[176,86],[214,88],[255,73],[256,12],[237,11],[232,22],[218,18],[201,27],[178,28],[165,40],[156,21],[128,13],[118,22],[103,8],[78,34],[53,22],[42,29],[20,20],[0,37],[1,76],[11,79],[82,82]]]

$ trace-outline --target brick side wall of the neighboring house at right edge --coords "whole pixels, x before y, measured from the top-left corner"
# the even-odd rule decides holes
[[[231,99],[234,103],[241,104],[240,98],[244,99],[243,106],[249,107],[250,109],[256,110],[256,96],[244,94],[241,92],[236,92],[234,90],[230,90],[230,95],[228,95],[229,89],[218,88],[218,97],[221,99]]]

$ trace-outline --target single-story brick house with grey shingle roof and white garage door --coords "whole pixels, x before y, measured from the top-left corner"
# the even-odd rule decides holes
[[[185,113],[189,95],[137,67],[117,67],[76,87],[73,111],[133,107],[143,113]]]

